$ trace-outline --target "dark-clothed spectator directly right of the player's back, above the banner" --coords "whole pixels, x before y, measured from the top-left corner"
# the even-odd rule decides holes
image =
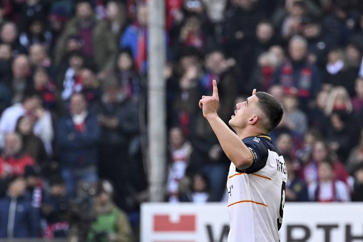
[[[289,155],[284,155],[287,174],[289,174],[286,183],[286,201],[287,202],[307,202],[309,195],[306,185],[296,175],[295,164]]]

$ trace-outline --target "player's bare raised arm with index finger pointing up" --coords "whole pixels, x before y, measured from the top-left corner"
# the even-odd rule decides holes
[[[256,93],[256,90],[254,90]],[[253,163],[253,156],[242,140],[225,124],[217,115],[219,103],[217,82],[213,80],[213,95],[203,96],[199,101],[199,107],[203,108],[203,115],[221,144],[227,157],[238,169],[247,169]]]

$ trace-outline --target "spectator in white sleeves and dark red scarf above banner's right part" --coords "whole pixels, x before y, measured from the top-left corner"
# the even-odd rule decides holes
[[[318,165],[318,181],[309,185],[309,200],[316,202],[347,202],[350,194],[347,184],[335,179],[333,164],[323,161]]]

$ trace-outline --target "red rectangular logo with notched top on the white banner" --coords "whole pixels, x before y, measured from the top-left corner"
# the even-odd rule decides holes
[[[176,223],[170,221],[169,215],[154,215],[154,231],[194,232],[195,215],[180,215]]]

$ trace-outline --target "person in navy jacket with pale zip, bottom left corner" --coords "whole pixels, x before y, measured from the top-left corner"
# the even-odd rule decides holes
[[[0,238],[37,237],[39,214],[24,197],[26,182],[13,176],[8,181],[6,195],[0,200]]]

